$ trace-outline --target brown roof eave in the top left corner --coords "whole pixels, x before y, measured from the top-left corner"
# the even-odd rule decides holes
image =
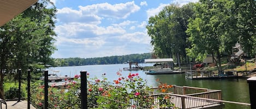
[[[21,12],[25,11],[38,0],[1,0],[0,26],[4,25]]]

